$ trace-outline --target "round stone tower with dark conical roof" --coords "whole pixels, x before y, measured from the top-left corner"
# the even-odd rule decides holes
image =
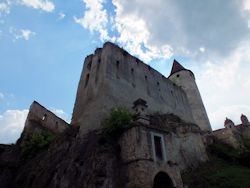
[[[185,69],[180,63],[174,60],[173,67],[168,78],[186,92],[196,124],[202,131],[211,132],[211,125],[202,102],[199,89],[196,85],[193,72]]]

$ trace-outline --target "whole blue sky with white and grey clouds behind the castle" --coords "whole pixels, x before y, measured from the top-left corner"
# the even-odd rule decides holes
[[[67,121],[84,57],[113,41],[196,75],[213,129],[250,116],[250,0],[0,0],[0,143],[37,100]]]

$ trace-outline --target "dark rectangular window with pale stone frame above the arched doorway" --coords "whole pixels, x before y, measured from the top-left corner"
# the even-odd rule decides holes
[[[153,157],[155,161],[166,161],[163,135],[151,133]]]

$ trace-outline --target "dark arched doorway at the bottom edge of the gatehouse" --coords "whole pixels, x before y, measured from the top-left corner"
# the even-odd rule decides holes
[[[165,172],[159,172],[154,178],[153,188],[173,188],[171,178]]]

